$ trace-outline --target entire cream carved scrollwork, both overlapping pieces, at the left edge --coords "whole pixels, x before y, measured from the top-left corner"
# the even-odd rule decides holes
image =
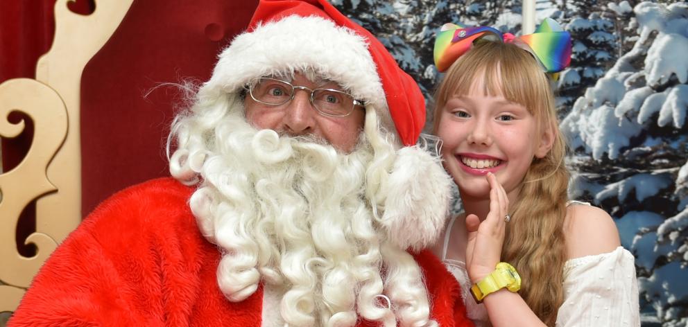
[[[103,47],[133,0],[96,0],[90,15],[71,12],[71,0],[55,2],[53,45],[37,63],[36,80],[19,78],[0,85],[0,135],[15,137],[24,123],[12,124],[12,111],[34,122],[33,143],[14,169],[0,175],[0,312],[15,310],[40,265],[81,222],[80,84],[87,62]],[[36,200],[36,231],[27,243],[32,258],[19,255],[15,231],[19,214]]]

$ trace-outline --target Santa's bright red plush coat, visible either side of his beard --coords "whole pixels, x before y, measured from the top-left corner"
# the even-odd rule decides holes
[[[107,200],[46,261],[9,326],[260,326],[263,292],[239,303],[218,290],[219,251],[200,235],[173,179]],[[458,283],[427,252],[415,256],[440,326],[472,326]]]

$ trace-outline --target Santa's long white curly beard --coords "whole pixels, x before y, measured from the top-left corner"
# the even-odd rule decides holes
[[[363,133],[341,154],[229,114],[207,143],[212,150],[182,149],[172,160],[203,181],[191,211],[224,252],[217,276],[227,299],[242,301],[264,283],[284,290],[279,312],[290,326],[354,326],[359,317],[433,324],[418,264],[386,239],[365,197],[373,150]]]

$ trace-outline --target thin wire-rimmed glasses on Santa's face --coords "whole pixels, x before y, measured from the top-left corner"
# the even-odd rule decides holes
[[[277,78],[259,78],[257,82],[247,85],[246,88],[253,100],[264,105],[284,105],[293,100],[297,89],[309,91],[311,105],[325,116],[349,116],[356,105],[363,105],[363,101],[354,99],[345,91],[297,87]]]

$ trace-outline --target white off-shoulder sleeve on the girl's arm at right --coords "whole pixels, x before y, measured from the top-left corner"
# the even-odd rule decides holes
[[[623,247],[568,260],[556,326],[640,326],[634,261]]]

